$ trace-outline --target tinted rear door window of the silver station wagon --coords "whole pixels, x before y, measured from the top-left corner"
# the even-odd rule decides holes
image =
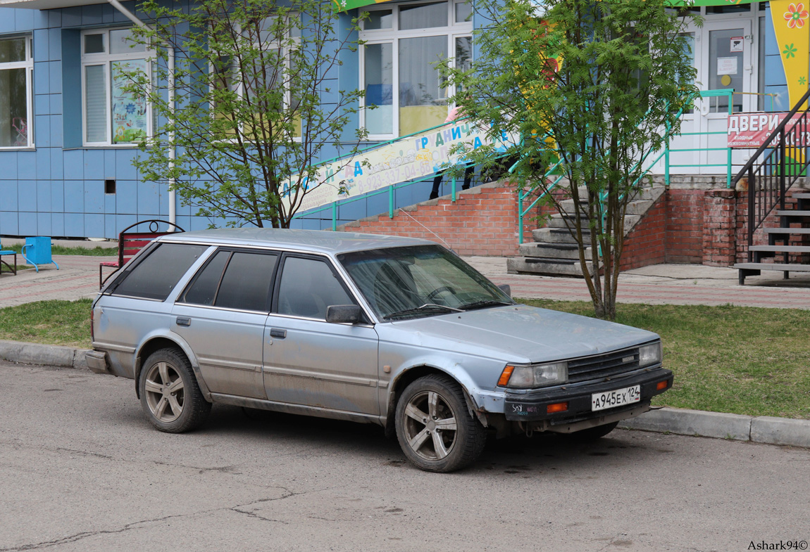
[[[277,259],[278,255],[234,251],[216,292],[214,306],[267,311]]]

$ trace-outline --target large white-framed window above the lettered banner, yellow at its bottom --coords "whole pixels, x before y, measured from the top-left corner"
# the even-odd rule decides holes
[[[419,132],[447,118],[447,87],[437,61],[471,60],[472,21],[467,2],[428,2],[369,8],[360,40],[365,128],[371,139]]]

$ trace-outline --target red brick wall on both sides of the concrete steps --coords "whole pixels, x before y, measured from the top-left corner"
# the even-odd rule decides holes
[[[788,203],[794,201],[789,199]],[[539,209],[535,212],[539,213]],[[669,189],[625,238],[621,268],[629,270],[656,263],[730,267],[735,262],[744,262],[748,248],[747,212],[747,192],[726,188]],[[532,241],[531,228],[535,227],[532,222],[531,214],[527,215],[524,242]],[[776,226],[778,219],[771,214],[762,228]],[[514,187],[492,183],[459,193],[455,203],[446,199],[424,201],[396,211],[394,218],[387,214],[369,217],[343,225],[339,230],[428,239],[446,243],[459,255],[515,256],[517,228]],[[762,229],[757,230],[754,243],[767,243]],[[807,259],[795,258],[792,262],[803,261]]]

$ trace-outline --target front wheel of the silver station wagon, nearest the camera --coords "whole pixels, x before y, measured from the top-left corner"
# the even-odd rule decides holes
[[[460,470],[480,456],[487,442],[487,431],[471,415],[461,386],[439,374],[420,377],[405,388],[395,425],[399,446],[420,470]]]

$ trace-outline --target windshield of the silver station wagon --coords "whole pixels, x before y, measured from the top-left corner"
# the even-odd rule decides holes
[[[384,320],[514,303],[497,285],[441,246],[356,251],[338,259]]]

